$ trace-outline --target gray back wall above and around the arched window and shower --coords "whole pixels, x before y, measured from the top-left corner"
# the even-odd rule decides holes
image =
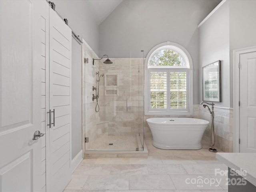
[[[99,55],[128,58],[170,41],[188,50],[194,64],[193,98],[198,104],[199,30],[197,25],[220,0],[124,0],[99,26]],[[134,56],[133,56],[134,57]]]

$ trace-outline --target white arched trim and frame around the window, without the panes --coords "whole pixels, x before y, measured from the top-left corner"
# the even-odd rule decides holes
[[[173,66],[148,66],[148,60],[151,58],[151,56],[156,53],[159,50],[162,50],[164,48],[170,48],[172,50],[175,50],[178,52],[183,58],[184,62],[186,63],[186,67],[173,67]],[[174,69],[175,71],[178,70],[187,70],[187,110],[180,111],[180,109],[151,109],[150,108],[150,71],[156,71],[156,70],[165,70],[166,72],[169,72],[169,70]],[[170,82],[168,82],[170,85]],[[170,92],[169,92],[170,93]],[[167,97],[168,98],[168,97]],[[173,42],[164,42],[161,44],[158,44],[154,48],[148,52],[145,60],[145,115],[191,115],[193,114],[193,63],[192,58],[188,51],[182,47],[179,44],[173,43]]]

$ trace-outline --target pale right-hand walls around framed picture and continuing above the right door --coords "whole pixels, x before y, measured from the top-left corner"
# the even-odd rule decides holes
[[[255,7],[255,0],[227,0],[200,26],[200,93],[202,66],[222,60],[222,102],[216,106],[233,108],[233,51],[256,46]]]

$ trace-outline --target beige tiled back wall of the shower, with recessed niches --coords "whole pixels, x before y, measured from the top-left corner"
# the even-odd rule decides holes
[[[110,59],[113,64],[99,62],[100,122],[108,135],[136,136],[143,128],[142,59]]]

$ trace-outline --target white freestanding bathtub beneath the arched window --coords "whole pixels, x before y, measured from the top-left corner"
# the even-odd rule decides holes
[[[153,145],[160,149],[202,148],[201,140],[209,122],[196,118],[149,118]]]

